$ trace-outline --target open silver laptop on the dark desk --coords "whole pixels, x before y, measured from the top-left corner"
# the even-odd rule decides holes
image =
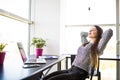
[[[41,64],[41,63],[46,63],[46,59],[45,58],[27,58],[26,57],[26,54],[25,54],[25,51],[24,51],[24,48],[23,48],[23,45],[21,42],[18,42],[17,43],[17,46],[18,46],[18,49],[19,49],[19,52],[20,52],[20,56],[22,58],[22,61],[24,64]]]

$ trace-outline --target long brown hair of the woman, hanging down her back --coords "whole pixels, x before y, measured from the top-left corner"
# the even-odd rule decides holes
[[[90,65],[93,68],[98,67],[98,44],[102,37],[103,30],[98,25],[94,25],[94,27],[97,29],[97,37],[95,43],[91,46],[90,51]]]

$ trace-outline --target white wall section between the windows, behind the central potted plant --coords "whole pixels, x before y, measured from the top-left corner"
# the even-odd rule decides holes
[[[33,0],[33,35],[47,40],[44,54],[59,54],[60,0]]]

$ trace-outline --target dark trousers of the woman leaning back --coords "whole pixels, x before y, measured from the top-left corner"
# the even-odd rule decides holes
[[[43,78],[43,80],[85,80],[88,73],[77,67],[68,70],[53,72]]]

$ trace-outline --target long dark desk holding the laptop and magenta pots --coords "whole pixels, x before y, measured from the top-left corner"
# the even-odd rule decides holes
[[[47,59],[46,64],[40,64],[40,67],[23,68],[23,64],[19,62],[9,62],[0,65],[0,80],[21,80],[35,74],[36,72],[43,72],[44,70],[58,64],[58,69],[61,68],[61,61],[66,57],[58,59]],[[42,74],[41,74],[42,75]],[[40,76],[41,76],[40,75]]]

